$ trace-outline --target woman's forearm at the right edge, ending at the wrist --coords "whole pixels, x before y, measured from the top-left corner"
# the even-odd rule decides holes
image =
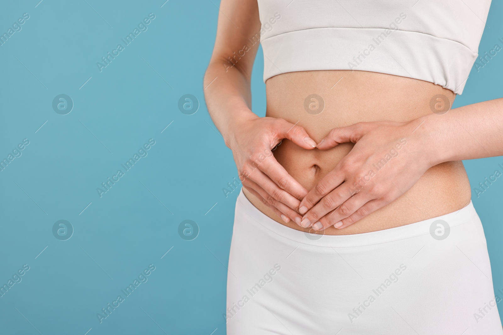
[[[503,98],[430,114],[413,122],[431,165],[503,155]]]

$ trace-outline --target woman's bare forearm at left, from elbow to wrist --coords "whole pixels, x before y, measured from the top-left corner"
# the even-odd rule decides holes
[[[204,76],[204,95],[213,123],[229,147],[240,121],[257,116],[251,111],[250,78],[225,60],[212,60]]]

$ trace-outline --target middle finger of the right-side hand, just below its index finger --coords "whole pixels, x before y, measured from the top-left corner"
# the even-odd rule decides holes
[[[314,205],[314,207],[309,209],[307,213],[304,214],[301,226],[304,228],[310,227],[311,224],[314,224],[327,213],[341,206],[352,195],[349,184],[343,183],[341,186],[322,197],[319,202]],[[350,214],[351,213],[348,213],[348,216]]]

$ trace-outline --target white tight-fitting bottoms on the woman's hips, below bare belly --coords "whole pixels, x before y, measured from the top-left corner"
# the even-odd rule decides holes
[[[502,335],[480,219],[459,211],[378,232],[320,236],[237,197],[228,335]]]

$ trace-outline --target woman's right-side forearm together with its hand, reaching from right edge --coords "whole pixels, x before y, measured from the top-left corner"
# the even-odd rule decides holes
[[[315,230],[348,227],[404,194],[437,164],[503,155],[503,98],[405,123],[336,128],[317,147],[345,142],[356,144],[301,201],[303,222]]]

